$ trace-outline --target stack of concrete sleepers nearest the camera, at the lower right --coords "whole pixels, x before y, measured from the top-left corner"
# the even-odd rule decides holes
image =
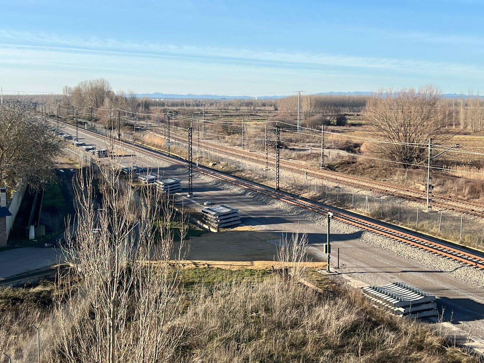
[[[382,287],[363,287],[374,305],[387,309],[404,318],[437,316],[435,296],[403,282],[394,282]]]

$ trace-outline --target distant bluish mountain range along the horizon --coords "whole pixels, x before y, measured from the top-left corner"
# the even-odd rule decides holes
[[[350,95],[350,96],[368,96],[371,95],[373,92],[368,91],[355,91],[355,92],[319,92],[314,93],[316,95],[333,95],[333,96],[342,96],[342,95]],[[288,96],[241,96],[241,95],[217,95],[217,94],[173,94],[173,93],[136,93],[137,97],[147,97],[147,98],[163,98],[163,99],[211,99],[211,100],[264,100],[264,99],[279,99],[279,98],[286,98]],[[447,98],[461,98],[461,97],[469,97],[467,94],[463,93],[445,93],[443,94],[444,97]],[[477,97],[473,95],[473,97]],[[484,96],[480,96],[484,97]]]

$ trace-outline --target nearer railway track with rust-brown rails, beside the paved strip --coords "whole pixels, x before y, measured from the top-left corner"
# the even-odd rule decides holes
[[[72,125],[70,124],[66,125],[72,127]],[[107,139],[107,137],[103,134],[94,131],[82,130],[82,132],[88,133],[92,136],[100,137],[102,139]],[[115,143],[117,143],[121,147],[129,147],[130,149],[134,148],[136,151],[139,151],[146,155],[150,155],[160,160],[164,160],[171,164],[176,164],[183,167],[188,166],[188,161],[185,159],[177,156],[167,156],[161,151],[153,150],[143,145],[129,143],[124,140],[115,140]],[[252,181],[246,181],[235,176],[227,175],[223,172],[211,169],[206,166],[194,165],[193,169],[198,173],[208,175],[212,178],[225,181],[238,187],[254,191],[266,197],[277,199],[284,203],[294,205],[296,207],[320,215],[326,215],[328,212],[333,212],[334,219],[341,222],[347,223],[349,225],[361,228],[372,233],[376,233],[378,235],[392,239],[393,241],[406,243],[416,248],[428,251],[429,253],[438,255],[440,257],[453,259],[463,265],[473,266],[477,269],[484,270],[484,253],[478,250],[464,247],[449,241],[440,240],[435,237],[427,236],[404,227],[399,227],[386,222],[378,221],[376,219],[355,212],[349,212],[340,208],[328,206],[323,203],[318,203],[289,193],[274,191],[265,185],[258,184]]]

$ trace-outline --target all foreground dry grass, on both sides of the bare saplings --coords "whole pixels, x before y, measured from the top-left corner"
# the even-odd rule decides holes
[[[359,291],[328,283],[315,270],[305,273],[321,287],[319,292],[267,270],[184,270],[179,276],[185,286],[180,291],[183,312],[177,323],[182,339],[170,361],[479,361],[435,327],[390,316]],[[6,289],[1,296],[26,291]],[[15,362],[34,359],[30,324],[49,326],[53,316],[45,307],[27,309],[27,304],[24,299],[17,306],[22,308],[3,310],[0,316],[0,348],[16,356]],[[43,334],[45,349],[56,355],[59,347],[49,335],[57,332]],[[44,353],[44,362],[51,362]]]

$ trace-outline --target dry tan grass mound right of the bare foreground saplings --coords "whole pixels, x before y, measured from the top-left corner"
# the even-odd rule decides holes
[[[357,291],[318,293],[280,276],[201,287],[182,317],[186,362],[473,362],[431,327]]]

